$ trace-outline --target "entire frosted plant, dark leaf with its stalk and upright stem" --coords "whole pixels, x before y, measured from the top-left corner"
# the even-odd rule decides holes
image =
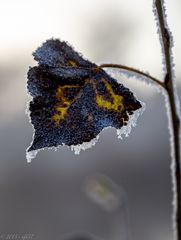
[[[128,136],[136,125],[144,104],[103,69],[136,77],[161,92],[165,97],[171,144],[173,179],[174,239],[181,240],[181,164],[180,104],[176,91],[173,37],[169,30],[164,0],[153,0],[162,50],[163,79],[147,72],[119,64],[97,66],[85,60],[66,42],[48,40],[34,53],[38,66],[28,72],[28,92],[32,96],[29,116],[34,126],[30,162],[40,149],[69,146],[76,154],[95,145],[99,133],[115,127],[118,137]],[[91,195],[100,200],[97,195]],[[112,199],[110,194],[108,198]],[[109,200],[109,199],[108,199]]]

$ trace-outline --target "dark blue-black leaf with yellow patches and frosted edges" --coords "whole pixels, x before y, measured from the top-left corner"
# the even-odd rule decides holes
[[[29,154],[45,147],[94,145],[106,127],[121,129],[142,105],[133,93],[66,42],[48,40],[33,54],[28,72],[29,115],[34,137]]]

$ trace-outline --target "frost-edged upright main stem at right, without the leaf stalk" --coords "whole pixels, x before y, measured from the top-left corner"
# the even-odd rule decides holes
[[[176,221],[176,231],[177,240],[181,240],[181,166],[180,166],[180,118],[178,109],[176,106],[175,91],[174,91],[174,79],[172,72],[172,60],[171,60],[171,35],[166,23],[165,12],[162,0],[155,1],[155,7],[158,15],[159,28],[161,30],[161,42],[163,45],[164,59],[165,59],[165,89],[167,90],[170,109],[171,109],[171,119],[173,127],[173,144],[174,144],[174,182],[176,199],[175,199],[175,221]]]

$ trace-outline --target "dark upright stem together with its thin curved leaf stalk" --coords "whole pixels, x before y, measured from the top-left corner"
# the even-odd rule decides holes
[[[179,116],[179,109],[177,108],[177,100],[176,100],[176,92],[174,86],[174,77],[173,77],[173,69],[172,69],[172,60],[171,60],[171,36],[169,29],[167,27],[167,23],[164,17],[164,6],[163,0],[155,0],[154,6],[156,9],[156,13],[158,16],[158,24],[160,27],[160,37],[161,42],[163,45],[164,50],[164,60],[165,60],[165,67],[166,67],[166,74],[164,82],[150,76],[147,73],[144,73],[140,70],[137,70],[132,67],[127,67],[124,65],[119,64],[102,64],[100,68],[118,68],[121,70],[126,70],[128,72],[132,72],[138,74],[140,76],[144,76],[151,81],[157,83],[159,86],[163,87],[167,94],[168,100],[170,104],[170,118],[172,124],[172,132],[173,132],[173,144],[171,143],[171,151],[173,152],[173,161],[174,161],[174,168],[173,168],[173,188],[174,188],[174,225],[176,224],[176,240],[181,240],[181,162],[180,162],[180,116]]]

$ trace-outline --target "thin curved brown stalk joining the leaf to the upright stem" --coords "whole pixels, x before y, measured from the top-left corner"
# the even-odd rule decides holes
[[[121,69],[121,70],[126,70],[128,72],[136,73],[140,76],[146,77],[150,81],[153,81],[153,82],[157,83],[161,87],[165,87],[165,84],[163,82],[161,82],[160,80],[158,80],[155,77],[152,77],[149,74],[144,73],[144,72],[142,72],[138,69],[132,68],[132,67],[128,67],[128,66],[124,66],[124,65],[120,65],[120,64],[112,64],[112,63],[101,64],[99,67],[100,68],[118,68],[118,69]]]

